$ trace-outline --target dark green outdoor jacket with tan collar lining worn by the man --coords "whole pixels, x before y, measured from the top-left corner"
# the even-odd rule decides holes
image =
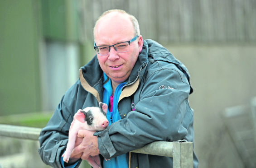
[[[98,148],[111,159],[154,141],[193,142],[193,92],[186,67],[163,46],[144,40],[143,49],[118,100],[121,120],[96,132]],[[79,70],[79,79],[64,94],[39,136],[44,163],[61,168],[60,157],[68,143],[68,131],[78,109],[98,106],[103,98],[103,72],[95,56]],[[101,157],[101,159],[103,159]],[[130,168],[172,168],[172,158],[129,153]],[[79,164],[77,164],[77,167]],[[194,154],[194,168],[198,159]]]

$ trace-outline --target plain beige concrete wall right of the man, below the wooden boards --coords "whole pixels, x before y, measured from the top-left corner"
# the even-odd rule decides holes
[[[248,104],[256,96],[255,45],[167,47],[191,75],[194,93],[195,151],[200,168],[243,168],[223,124],[226,107]]]

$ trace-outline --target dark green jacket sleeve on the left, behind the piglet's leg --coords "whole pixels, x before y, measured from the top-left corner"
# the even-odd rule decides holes
[[[68,131],[73,119],[73,114],[69,112],[72,105],[67,106],[64,99],[65,95],[39,135],[39,155],[44,163],[54,168],[62,168],[61,156],[68,143]],[[81,160],[76,168],[80,163]]]

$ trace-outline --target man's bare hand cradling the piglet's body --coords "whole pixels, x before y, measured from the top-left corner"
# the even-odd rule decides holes
[[[89,156],[100,154],[98,149],[97,136],[93,136],[96,131],[79,130],[75,143],[75,148],[72,150],[69,164],[77,162],[78,159],[87,160]]]

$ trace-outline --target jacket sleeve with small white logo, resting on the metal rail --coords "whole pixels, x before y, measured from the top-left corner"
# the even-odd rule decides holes
[[[150,70],[135,110],[97,133],[100,153],[111,159],[153,141],[193,141],[189,93],[186,76],[174,64]]]

